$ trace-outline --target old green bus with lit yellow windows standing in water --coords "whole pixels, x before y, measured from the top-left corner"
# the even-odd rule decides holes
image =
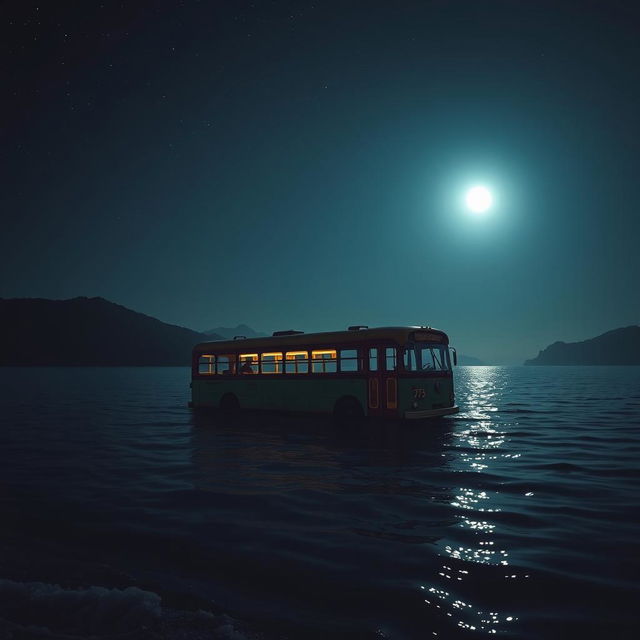
[[[237,336],[193,349],[190,406],[383,418],[458,411],[447,335],[430,327],[349,327]]]

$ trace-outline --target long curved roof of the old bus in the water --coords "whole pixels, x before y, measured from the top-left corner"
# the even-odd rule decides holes
[[[281,346],[303,347],[305,345],[343,345],[360,344],[362,342],[388,341],[398,345],[406,344],[410,334],[419,331],[423,340],[449,344],[444,331],[432,327],[374,327],[352,329],[348,331],[326,331],[323,333],[287,333],[286,335],[263,338],[242,338],[237,340],[214,340],[197,344],[194,353],[214,351],[264,350],[278,349]],[[437,338],[436,338],[437,336]]]

